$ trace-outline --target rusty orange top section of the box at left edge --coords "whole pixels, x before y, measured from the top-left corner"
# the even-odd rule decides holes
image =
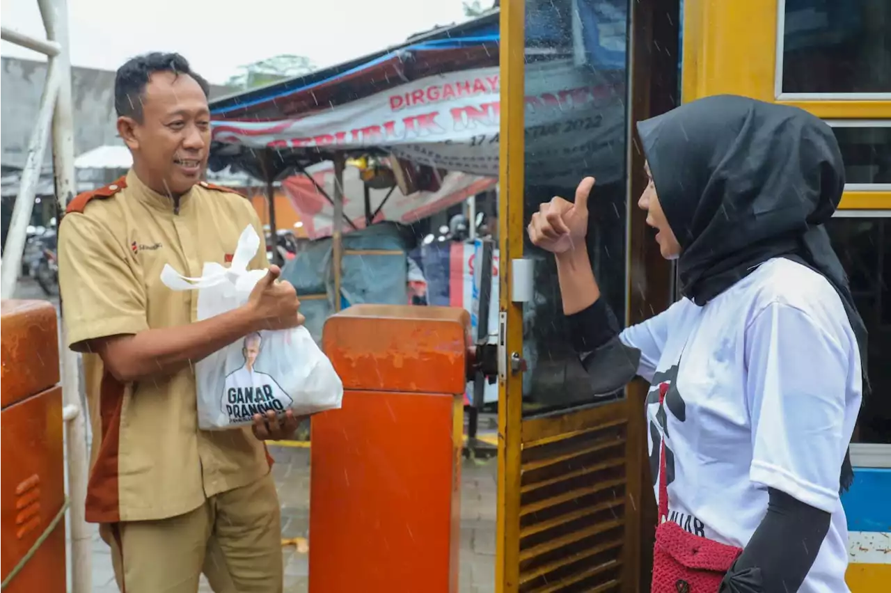
[[[0,410],[58,382],[59,335],[53,305],[0,300]]]

